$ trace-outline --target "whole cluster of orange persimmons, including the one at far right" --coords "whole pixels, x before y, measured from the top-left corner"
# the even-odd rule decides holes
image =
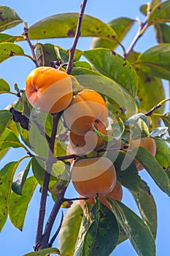
[[[63,111],[63,118],[69,128],[69,143],[66,154],[74,154],[71,163],[71,179],[80,197],[88,197],[88,203],[95,203],[95,197],[110,208],[107,197],[122,200],[123,189],[117,182],[115,167],[107,157],[87,153],[97,151],[104,141],[95,132],[108,135],[106,121],[108,109],[104,98],[96,91],[82,89],[74,94],[72,77],[53,67],[38,67],[26,80],[26,97],[34,107],[46,113]],[[142,138],[132,141],[129,149],[143,146],[155,155],[155,140]],[[89,156],[89,155],[88,155]],[[138,170],[142,165],[135,162]],[[107,197],[105,197],[107,195]],[[84,200],[80,200],[83,207]]]

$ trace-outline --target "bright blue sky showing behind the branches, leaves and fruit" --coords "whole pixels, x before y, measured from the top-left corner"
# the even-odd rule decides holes
[[[54,15],[56,13],[62,12],[79,12],[80,4],[82,1],[80,0],[65,0],[65,1],[48,1],[45,4],[40,0],[30,0],[30,1],[11,1],[11,0],[1,0],[1,5],[7,5],[8,7],[13,8],[18,15],[23,20],[28,21],[28,26],[36,23],[36,21],[41,20],[42,18],[46,18],[47,16]],[[98,1],[98,0],[89,0],[87,4],[87,8],[85,13],[88,15],[93,15],[96,18],[103,20],[104,22],[109,22],[113,18],[119,17],[128,17],[128,18],[141,18],[144,20],[144,16],[139,12],[139,7],[142,4],[146,4],[147,1],[142,0],[129,0],[129,1]],[[134,35],[137,31],[137,25],[135,25],[128,34],[128,38],[123,40],[123,44],[125,48],[128,48],[131,40],[134,38]],[[9,34],[22,34],[23,32],[23,24],[15,27],[14,29],[10,29],[6,31]],[[90,38],[81,38],[78,43],[78,48],[82,50],[86,50],[90,48]],[[61,47],[65,49],[69,49],[72,45],[72,39],[53,39],[53,40],[44,40],[41,42],[53,42],[55,45],[61,45]],[[150,48],[152,45],[155,45],[155,38],[152,31],[152,28],[148,29],[144,37],[139,39],[139,42],[136,44],[135,50],[144,51],[147,48]],[[24,48],[25,52],[28,54],[30,50],[26,42],[20,42],[20,45]],[[121,52],[120,52],[121,54]],[[28,73],[34,69],[34,63],[31,62],[27,58],[23,57],[15,57],[12,59],[8,59],[0,64],[0,78],[4,78],[7,82],[13,86],[14,83],[18,83],[20,88],[24,88],[26,86],[26,77]],[[164,83],[165,88],[167,83]],[[0,95],[0,107],[5,108],[12,100],[12,98],[8,95]],[[15,150],[9,151],[6,157],[1,160],[0,167],[5,163],[19,159],[23,155],[23,151]],[[24,165],[23,165],[24,166]],[[22,166],[20,166],[22,169]],[[154,182],[147,175],[146,171],[143,170],[140,172],[142,178],[147,181],[149,184],[152,194],[155,197],[155,202],[158,208],[158,235],[156,238],[157,245],[157,255],[168,255],[169,253],[169,228],[170,228],[170,208],[169,208],[169,197],[161,192],[158,187],[155,186]],[[75,194],[72,187],[67,191],[68,197],[72,197]],[[36,189],[34,196],[31,200],[31,203],[28,207],[28,213],[26,215],[26,221],[23,227],[23,232],[20,232],[12,224],[7,221],[4,229],[0,233],[0,246],[1,246],[1,255],[15,255],[21,256],[26,252],[30,252],[33,249],[34,245],[34,237],[36,232],[36,220],[39,208],[39,189]],[[130,208],[133,208],[136,213],[138,213],[136,204],[134,203],[134,199],[131,194],[127,191],[127,189],[123,190],[123,203],[127,204]],[[48,200],[47,209],[50,209],[53,205],[53,201]],[[56,226],[58,223],[56,222]],[[57,246],[57,244],[54,244]],[[134,248],[131,246],[129,241],[123,242],[120,246],[117,246],[115,252],[112,254],[115,256],[135,256],[136,252]]]

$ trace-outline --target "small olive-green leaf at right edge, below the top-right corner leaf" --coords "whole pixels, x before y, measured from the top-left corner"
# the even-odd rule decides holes
[[[156,23],[154,26],[158,43],[170,42],[170,26],[165,23]]]

